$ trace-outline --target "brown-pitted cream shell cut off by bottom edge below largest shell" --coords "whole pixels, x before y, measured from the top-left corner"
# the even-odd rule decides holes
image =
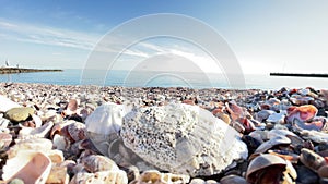
[[[144,171],[131,184],[185,184],[190,177],[183,174],[161,173],[156,170]]]

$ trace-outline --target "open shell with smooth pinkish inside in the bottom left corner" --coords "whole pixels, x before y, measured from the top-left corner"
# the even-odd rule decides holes
[[[51,160],[42,152],[20,151],[7,160],[2,179],[21,179],[24,183],[45,183],[51,170]]]

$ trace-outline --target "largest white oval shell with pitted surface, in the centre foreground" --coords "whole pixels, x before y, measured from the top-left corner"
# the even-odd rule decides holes
[[[171,103],[129,112],[120,136],[144,161],[171,173],[212,175],[248,150],[238,133],[197,106]]]

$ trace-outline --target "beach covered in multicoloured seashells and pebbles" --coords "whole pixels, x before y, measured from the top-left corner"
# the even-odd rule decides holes
[[[328,90],[0,83],[0,183],[328,183]]]

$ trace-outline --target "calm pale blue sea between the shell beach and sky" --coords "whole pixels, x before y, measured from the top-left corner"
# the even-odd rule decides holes
[[[314,87],[316,89],[328,88],[328,78],[282,77],[269,76],[269,74],[245,74],[237,78],[245,81],[244,87],[257,89],[279,89],[281,87],[302,88]],[[103,70],[75,70],[68,69],[63,72],[39,72],[20,74],[0,74],[0,82],[16,83],[44,83],[58,85],[101,85],[101,86],[185,86],[192,88],[233,88],[223,74],[201,74],[181,72],[128,72]]]

